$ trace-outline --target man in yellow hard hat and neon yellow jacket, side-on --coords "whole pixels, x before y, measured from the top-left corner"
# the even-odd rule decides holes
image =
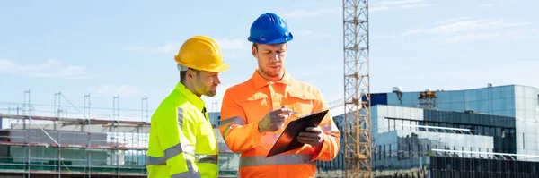
[[[195,36],[175,55],[180,82],[152,115],[146,165],[149,178],[218,175],[216,135],[202,95],[216,95],[219,72],[230,68],[216,40]]]

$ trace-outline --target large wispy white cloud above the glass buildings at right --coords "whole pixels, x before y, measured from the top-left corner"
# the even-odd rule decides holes
[[[469,40],[485,39],[517,39],[522,38],[526,33],[521,33],[519,27],[532,24],[529,21],[509,22],[494,19],[471,19],[469,17],[459,17],[439,21],[431,28],[419,28],[403,32],[400,36],[411,35],[434,35],[438,42],[451,43]]]

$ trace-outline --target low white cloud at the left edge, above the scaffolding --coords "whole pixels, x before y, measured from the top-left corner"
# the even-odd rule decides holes
[[[88,74],[85,66],[65,65],[56,59],[49,59],[43,64],[17,64],[12,60],[0,59],[0,73],[57,79],[88,79],[99,76]]]

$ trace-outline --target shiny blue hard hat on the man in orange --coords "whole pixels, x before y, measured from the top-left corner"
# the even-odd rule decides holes
[[[288,25],[275,13],[264,13],[252,22],[247,40],[259,44],[284,43],[292,40]]]

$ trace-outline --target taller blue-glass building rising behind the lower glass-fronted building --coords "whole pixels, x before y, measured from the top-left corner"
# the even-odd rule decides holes
[[[436,98],[432,99],[419,99],[421,92],[403,92],[402,97],[399,97],[397,93],[375,94],[376,97],[371,97],[371,100],[376,99],[376,103],[382,105],[385,103],[388,106],[422,107],[438,111],[512,117],[514,118],[512,121],[505,123],[515,127],[516,153],[539,155],[539,137],[537,137],[539,89],[508,85],[489,86],[482,89],[434,91],[434,93]],[[526,159],[539,161],[538,158],[532,157]]]

